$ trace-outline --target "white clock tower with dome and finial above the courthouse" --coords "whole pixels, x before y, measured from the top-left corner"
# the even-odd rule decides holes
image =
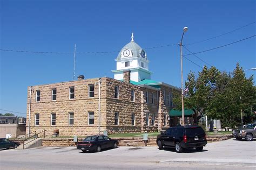
[[[152,72],[149,71],[149,60],[143,48],[133,40],[126,44],[117,56],[117,69],[112,70],[114,79],[124,80],[124,70],[131,71],[131,81],[139,82],[144,79],[151,79]]]

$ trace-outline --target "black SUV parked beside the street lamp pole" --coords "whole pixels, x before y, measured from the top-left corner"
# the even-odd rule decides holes
[[[202,151],[207,144],[205,131],[200,126],[175,126],[157,136],[159,150],[163,147],[174,147],[176,152],[183,152],[184,148],[196,147]]]

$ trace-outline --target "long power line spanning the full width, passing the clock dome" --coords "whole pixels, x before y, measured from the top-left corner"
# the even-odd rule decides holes
[[[204,41],[207,41],[207,40],[211,40],[211,39],[214,39],[214,38],[218,38],[218,37],[221,37],[221,36],[224,36],[228,33],[231,33],[231,32],[234,32],[234,31],[237,31],[237,30],[240,30],[246,26],[249,26],[249,25],[252,25],[256,22],[253,22],[253,23],[250,23],[250,24],[247,24],[245,26],[242,26],[242,27],[239,27],[235,30],[232,30],[232,31],[229,31],[229,32],[226,32],[226,33],[223,33],[223,34],[220,34],[219,36],[215,36],[215,37],[212,37],[212,38],[208,38],[208,39],[205,39],[205,40],[201,40],[201,41],[197,41],[197,42],[192,42],[190,44],[185,44],[186,46],[187,45],[192,45],[192,44],[197,44],[199,42],[204,42]],[[178,43],[175,43],[175,44],[168,44],[168,45],[163,45],[163,46],[155,46],[155,47],[147,47],[147,48],[144,48],[144,49],[153,49],[153,48],[162,48],[162,47],[167,47],[167,46],[173,46],[173,45],[178,45]],[[133,50],[139,50],[139,49],[133,49]],[[73,52],[40,52],[40,51],[21,51],[21,50],[12,50],[12,49],[0,49],[0,51],[7,51],[7,52],[23,52],[23,53],[50,53],[50,54],[73,54]],[[76,54],[99,54],[99,53],[117,53],[117,52],[120,52],[120,51],[105,51],[105,52],[76,52]]]

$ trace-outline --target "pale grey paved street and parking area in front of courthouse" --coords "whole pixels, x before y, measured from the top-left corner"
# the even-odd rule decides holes
[[[0,151],[1,169],[255,169],[256,141],[208,143],[204,151],[157,147],[118,147],[83,153],[75,147]]]

